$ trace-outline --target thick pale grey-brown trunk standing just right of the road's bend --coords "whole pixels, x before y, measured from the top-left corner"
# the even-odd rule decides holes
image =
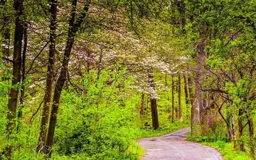
[[[203,84],[203,65],[205,62],[205,42],[199,42],[196,49],[198,50],[197,60],[197,69],[196,69],[196,94],[193,100],[193,105],[191,109],[191,122],[192,122],[192,132],[196,125],[199,125],[201,122],[200,113],[203,110],[203,91],[201,86]]]

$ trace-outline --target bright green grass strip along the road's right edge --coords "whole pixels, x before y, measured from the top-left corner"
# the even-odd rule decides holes
[[[224,160],[250,160],[250,155],[248,152],[240,152],[233,148],[232,143],[215,141],[207,142],[207,137],[192,137],[188,135],[187,140],[192,142],[198,142],[203,145],[213,147],[217,149],[220,154],[223,156]]]

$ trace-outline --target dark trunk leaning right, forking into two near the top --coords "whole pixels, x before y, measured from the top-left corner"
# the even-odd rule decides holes
[[[77,6],[77,0],[72,1],[72,11],[71,11],[71,18],[69,22],[69,30],[68,30],[68,40],[65,46],[64,51],[64,59],[62,62],[62,67],[60,70],[60,76],[58,77],[58,80],[55,84],[55,90],[53,94],[53,106],[50,113],[50,122],[48,127],[48,134],[46,137],[46,154],[48,157],[51,156],[51,148],[53,147],[53,136],[55,132],[55,125],[57,122],[57,114],[58,114],[58,106],[60,103],[60,95],[61,91],[63,90],[63,86],[65,84],[66,76],[68,73],[68,62],[70,60],[70,54],[73,47],[73,43],[75,40],[75,33],[78,32],[78,29],[80,28],[80,25],[82,24],[82,21],[84,21],[85,16],[87,14],[87,11],[89,10],[90,6],[90,0],[87,0],[85,3],[85,6],[83,8],[83,11],[80,13],[80,16],[77,18],[77,21],[75,21],[75,12],[76,12],[76,6]]]

